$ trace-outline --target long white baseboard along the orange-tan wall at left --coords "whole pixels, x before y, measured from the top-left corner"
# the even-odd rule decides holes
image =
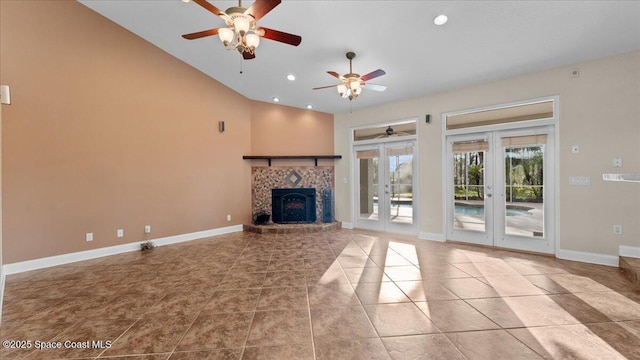
[[[69,264],[77,261],[91,260],[91,259],[95,259],[103,256],[122,254],[126,252],[131,252],[131,251],[139,251],[140,244],[147,241],[153,242],[154,245],[156,246],[164,246],[164,245],[177,244],[184,241],[202,239],[210,236],[229,234],[229,233],[238,232],[238,231],[242,231],[242,225],[227,226],[223,228],[198,231],[198,232],[193,232],[189,234],[167,236],[163,238],[149,239],[149,240],[144,240],[144,241],[139,241],[134,243],[109,246],[109,247],[100,248],[100,249],[50,256],[46,258],[21,261],[21,262],[12,263],[12,264],[4,264],[2,266],[2,276],[4,277],[5,275],[43,269],[51,266],[64,265],[64,264]]]

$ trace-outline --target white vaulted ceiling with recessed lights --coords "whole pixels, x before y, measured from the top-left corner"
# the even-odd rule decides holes
[[[640,49],[640,1],[284,0],[258,25],[302,43],[262,39],[248,61],[217,36],[181,37],[224,25],[196,3],[79,1],[250,99],[277,96],[334,114]],[[222,10],[238,5],[209,1]],[[441,27],[433,24],[439,14],[449,17]],[[357,54],[354,72],[385,70],[370,83],[387,90],[364,89],[351,103],[335,89],[311,90],[337,83],[327,70],[349,71],[347,51]]]

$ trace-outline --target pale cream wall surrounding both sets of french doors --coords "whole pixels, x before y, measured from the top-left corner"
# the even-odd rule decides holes
[[[575,67],[579,78],[570,77]],[[603,173],[640,173],[640,52],[339,114],[336,153],[350,153],[350,127],[419,117],[420,231],[443,234],[441,114],[550,95],[560,97],[560,247],[617,255],[619,245],[640,246],[640,184],[602,181]],[[580,154],[571,153],[574,144]],[[614,169],[613,157],[623,157],[624,167]],[[351,178],[350,161],[336,168],[344,222],[352,222],[351,181],[341,181]],[[570,176],[590,176],[592,185],[569,186]],[[613,235],[613,224],[624,226],[622,236]]]

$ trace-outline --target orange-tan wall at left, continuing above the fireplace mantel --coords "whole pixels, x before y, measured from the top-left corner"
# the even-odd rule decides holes
[[[248,100],[75,1],[0,16],[4,264],[247,223],[243,155],[333,152],[332,115]]]

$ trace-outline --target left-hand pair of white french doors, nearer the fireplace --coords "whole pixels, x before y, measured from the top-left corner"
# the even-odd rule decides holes
[[[356,227],[416,233],[413,141],[354,146]]]

